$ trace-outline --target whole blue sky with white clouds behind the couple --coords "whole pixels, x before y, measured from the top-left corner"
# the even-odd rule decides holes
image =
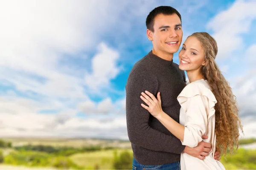
[[[1,1],[1,136],[128,139],[126,80],[152,48],[145,19],[162,5],[180,12],[183,42],[215,37],[244,136],[256,137],[254,0]]]

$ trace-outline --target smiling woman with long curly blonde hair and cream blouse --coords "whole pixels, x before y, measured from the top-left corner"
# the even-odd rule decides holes
[[[180,108],[180,124],[163,112],[160,92],[157,99],[148,91],[141,104],[156,117],[183,145],[195,147],[207,135],[204,142],[212,144],[209,156],[204,160],[181,153],[181,170],[224,170],[220,161],[214,159],[215,148],[226,155],[239,145],[241,122],[236,99],[228,82],[215,62],[217,43],[208,33],[199,32],[189,36],[179,53],[179,68],[187,72],[189,84],[177,97]],[[217,145],[216,145],[217,144]]]

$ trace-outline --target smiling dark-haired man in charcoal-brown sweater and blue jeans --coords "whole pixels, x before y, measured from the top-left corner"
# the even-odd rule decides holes
[[[147,90],[156,95],[160,91],[163,111],[179,122],[177,96],[186,85],[184,71],[172,59],[183,36],[179,12],[170,6],[154,8],[148,14],[146,26],[153,49],[134,65],[126,84],[126,119],[134,152],[133,169],[179,170],[180,153],[186,152],[204,159],[211,145],[200,142],[194,148],[183,146],[179,139],[141,107],[141,92]],[[215,159],[220,159],[220,153],[215,153]]]

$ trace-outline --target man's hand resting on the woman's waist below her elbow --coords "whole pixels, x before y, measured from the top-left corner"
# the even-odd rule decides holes
[[[198,159],[204,160],[205,156],[209,155],[211,151],[211,144],[201,141],[198,143],[196,147],[188,147],[186,146],[184,152],[189,154],[190,156],[194,156]]]

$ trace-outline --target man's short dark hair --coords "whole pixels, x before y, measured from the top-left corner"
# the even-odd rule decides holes
[[[154,32],[154,18],[158,14],[164,14],[164,15],[177,14],[181,22],[180,13],[175,8],[172,8],[171,6],[158,6],[157,8],[154,8],[151,12],[149,12],[148,17],[146,19],[147,29],[149,29],[152,32]]]

